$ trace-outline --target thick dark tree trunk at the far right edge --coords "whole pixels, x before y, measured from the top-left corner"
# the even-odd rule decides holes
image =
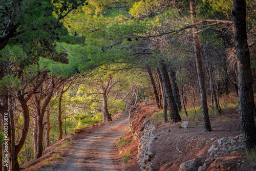
[[[237,54],[239,119],[245,137],[246,148],[250,152],[256,145],[256,126],[253,118],[253,91],[250,53],[246,35],[246,1],[233,0],[233,31]]]

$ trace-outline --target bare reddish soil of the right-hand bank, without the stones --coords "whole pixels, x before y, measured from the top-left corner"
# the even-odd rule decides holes
[[[150,117],[158,111],[154,102],[139,103],[141,108],[135,114],[134,120],[135,130],[139,133],[139,129],[146,117]],[[133,113],[132,113],[133,115]],[[179,170],[181,163],[188,160],[195,160],[195,156],[200,156],[197,160],[198,165],[203,165],[210,154],[208,149],[213,145],[218,145],[217,140],[222,137],[236,137],[240,135],[238,126],[237,107],[226,109],[222,114],[216,117],[211,117],[212,132],[203,132],[202,123],[189,123],[187,129],[180,129],[180,124],[171,123],[154,123],[156,126],[155,136],[157,140],[152,144],[151,151],[155,154],[152,158],[153,170]],[[132,136],[132,133],[126,133],[126,137]],[[215,140],[210,140],[214,138]],[[135,142],[137,142],[135,140]],[[131,142],[133,147],[134,142]],[[130,148],[126,145],[125,148]],[[134,157],[127,164],[129,170],[139,170],[136,165],[136,152],[133,151]],[[197,157],[196,157],[197,158]],[[206,165],[206,170],[256,170],[250,166],[246,160],[245,150],[240,150],[237,153],[224,153],[219,157],[210,161]]]

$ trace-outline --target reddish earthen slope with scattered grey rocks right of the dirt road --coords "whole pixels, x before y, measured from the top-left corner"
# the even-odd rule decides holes
[[[202,121],[190,122],[186,129],[180,129],[181,123],[170,124],[154,120],[152,114],[158,111],[154,102],[139,105],[139,110],[132,113],[135,132],[129,132],[124,137],[140,136],[139,130],[145,118],[153,121],[156,130],[150,149],[154,157],[145,161],[145,164],[151,166],[151,170],[175,171],[179,170],[183,162],[191,160],[193,161],[187,163],[194,168],[188,170],[256,170],[246,158],[245,145],[238,125],[237,106],[226,108],[223,113],[212,116],[210,121],[213,131],[203,132]],[[133,141],[131,146],[135,146]],[[123,148],[131,147],[126,144]],[[133,154],[132,161],[128,163],[130,170],[138,168],[135,164],[138,150],[133,151]]]

